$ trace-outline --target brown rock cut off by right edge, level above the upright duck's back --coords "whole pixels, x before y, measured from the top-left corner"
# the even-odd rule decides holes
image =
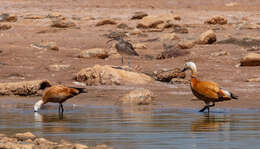
[[[248,53],[240,61],[241,66],[260,66],[260,54]]]

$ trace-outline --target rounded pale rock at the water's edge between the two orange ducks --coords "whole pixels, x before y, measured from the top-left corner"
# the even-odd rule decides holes
[[[130,91],[119,99],[121,104],[149,105],[152,104],[154,94],[152,91],[144,88]]]

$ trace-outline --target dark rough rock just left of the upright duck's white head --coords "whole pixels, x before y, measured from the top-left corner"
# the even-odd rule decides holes
[[[181,72],[181,69],[175,68],[171,70],[155,71],[154,79],[162,82],[170,82],[173,78],[185,78],[185,72]]]

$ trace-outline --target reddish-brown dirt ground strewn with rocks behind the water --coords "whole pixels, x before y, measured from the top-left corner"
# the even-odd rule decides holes
[[[48,79],[57,84],[72,85],[73,76],[80,69],[91,67],[95,64],[120,65],[121,59],[80,59],[77,58],[79,50],[88,48],[107,48],[108,40],[103,34],[118,30],[115,25],[96,27],[95,23],[101,18],[115,18],[118,22],[127,22],[130,27],[135,27],[137,21],[129,18],[136,11],[148,14],[174,13],[181,16],[178,24],[188,24],[189,33],[179,36],[187,39],[196,39],[203,31],[214,29],[218,41],[229,36],[236,38],[259,38],[257,29],[238,29],[243,22],[260,23],[259,0],[237,0],[238,5],[228,7],[225,4],[232,0],[1,0],[1,12],[14,13],[18,21],[10,23],[12,29],[0,31],[0,64],[1,82],[15,82],[21,80]],[[78,17],[74,20],[80,29],[64,29],[51,32],[49,19],[23,19],[27,14],[48,15],[57,12],[67,18]],[[223,26],[209,26],[203,22],[214,15],[225,16],[229,24]],[[95,20],[84,20],[91,16]],[[43,30],[50,32],[38,33]],[[128,31],[128,30],[126,30]],[[130,36],[129,39],[138,43],[146,39],[160,37],[163,32],[147,32],[148,37]],[[59,51],[36,49],[32,43],[41,41],[56,42]],[[156,56],[162,51],[162,42],[145,42],[147,49],[138,50],[141,55]],[[196,45],[189,49],[188,56],[181,56],[166,60],[146,60],[144,58],[131,58],[132,65],[139,65],[145,72],[152,72],[161,68],[183,67],[186,61],[197,64],[199,78],[212,80],[221,86],[239,95],[240,100],[228,101],[217,104],[223,108],[260,108],[260,82],[246,82],[248,78],[259,77],[260,67],[235,67],[240,59],[247,54],[248,47],[234,44]],[[213,52],[227,51],[230,55],[214,57]],[[68,64],[71,67],[61,71],[49,71],[48,65]],[[187,78],[189,79],[189,77]],[[114,104],[125,92],[136,86],[97,86],[87,87],[87,94],[79,95],[69,103],[75,104]],[[157,105],[172,106],[176,108],[202,107],[202,102],[192,101],[192,94],[188,85],[168,85],[156,83],[147,88],[156,94]],[[39,99],[40,97],[37,97]],[[3,97],[2,99],[6,99]],[[31,99],[31,98],[26,98]],[[33,101],[35,99],[32,99]]]

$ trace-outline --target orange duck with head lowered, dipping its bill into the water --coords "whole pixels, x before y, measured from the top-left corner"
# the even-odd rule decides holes
[[[66,87],[63,85],[55,85],[46,88],[43,91],[42,99],[35,103],[34,112],[37,112],[42,105],[48,102],[53,102],[59,103],[59,113],[63,113],[64,109],[62,103],[80,93],[86,93],[84,88]]]

